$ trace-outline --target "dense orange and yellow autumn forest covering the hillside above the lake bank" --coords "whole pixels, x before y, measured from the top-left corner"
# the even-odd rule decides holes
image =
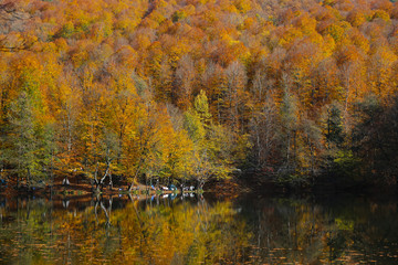
[[[0,0],[0,179],[396,186],[398,3]]]

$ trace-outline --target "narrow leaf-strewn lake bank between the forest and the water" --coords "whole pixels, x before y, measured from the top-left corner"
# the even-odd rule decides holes
[[[161,189],[164,188],[164,189]],[[70,184],[62,184],[62,179],[59,178],[53,186],[41,186],[41,187],[27,187],[22,186],[20,189],[14,189],[12,186],[1,186],[0,195],[3,197],[24,197],[24,195],[34,195],[34,197],[94,197],[96,194],[101,195],[118,195],[118,194],[132,194],[132,195],[161,195],[161,194],[172,194],[181,193],[181,190],[177,187],[174,187],[175,190],[165,190],[168,189],[166,186],[159,186],[155,188],[153,186],[136,184],[129,190],[127,184],[114,186],[112,189],[109,186],[103,186],[100,192],[95,190],[95,187],[86,183],[86,181],[76,181],[73,180]],[[259,177],[259,176],[244,176],[231,177],[229,179],[211,180],[207,182],[203,187],[203,190],[193,189],[189,190],[189,187],[186,187],[184,190],[185,193],[202,193],[202,192],[212,192],[217,194],[218,198],[223,199],[233,199],[244,194],[270,194],[270,195],[297,195],[297,197],[323,197],[323,195],[333,195],[338,193],[355,193],[355,194],[378,194],[387,193],[395,194],[397,193],[396,186],[377,186],[377,184],[364,184],[364,183],[348,183],[339,184],[325,181],[316,181],[312,184],[308,183],[290,183],[281,182],[269,177]]]

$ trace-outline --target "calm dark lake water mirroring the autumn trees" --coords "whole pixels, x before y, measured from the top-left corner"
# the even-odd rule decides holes
[[[0,264],[398,264],[397,198],[0,198]]]

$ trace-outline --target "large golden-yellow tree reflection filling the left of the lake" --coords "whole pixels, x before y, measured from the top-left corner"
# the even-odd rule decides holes
[[[11,208],[1,209],[1,262],[239,262],[250,240],[231,202],[203,197],[18,200]],[[7,214],[14,221],[7,223]]]

